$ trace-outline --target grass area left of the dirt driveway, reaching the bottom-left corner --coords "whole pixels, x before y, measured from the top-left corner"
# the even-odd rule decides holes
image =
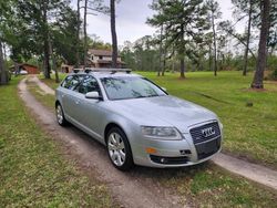
[[[64,159],[30,117],[18,82],[0,86],[0,207],[112,207],[105,185]]]

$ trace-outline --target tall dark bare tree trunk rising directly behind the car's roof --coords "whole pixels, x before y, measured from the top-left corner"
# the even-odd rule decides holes
[[[111,32],[113,43],[112,67],[117,67],[117,37],[115,29],[115,0],[110,0],[111,3]]]

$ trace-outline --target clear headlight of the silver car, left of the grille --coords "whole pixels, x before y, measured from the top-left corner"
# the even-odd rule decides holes
[[[142,126],[142,134],[146,137],[164,141],[179,141],[182,135],[175,127]]]

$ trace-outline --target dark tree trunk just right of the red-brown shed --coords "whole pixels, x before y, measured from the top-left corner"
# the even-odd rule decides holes
[[[44,37],[43,37],[43,55],[44,55],[44,76],[45,79],[51,79],[50,72],[50,59],[49,59],[49,28],[48,28],[48,3],[49,1],[43,1],[43,28],[44,28]]]

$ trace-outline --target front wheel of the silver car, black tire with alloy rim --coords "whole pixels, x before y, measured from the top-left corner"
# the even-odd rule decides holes
[[[134,166],[127,137],[121,128],[112,127],[109,131],[106,150],[113,166],[117,169],[126,171]]]

